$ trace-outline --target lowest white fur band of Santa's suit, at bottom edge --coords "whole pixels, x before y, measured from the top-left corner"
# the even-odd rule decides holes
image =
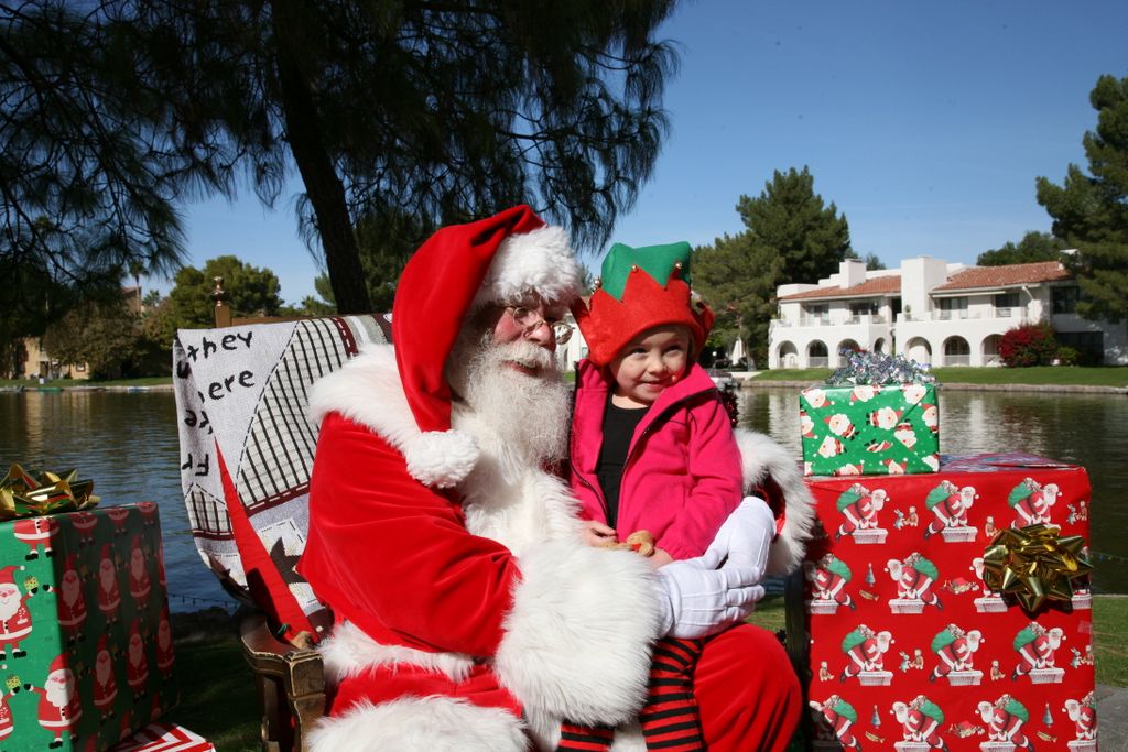
[[[309,733],[312,752],[528,752],[521,719],[449,697],[360,702],[321,718]]]

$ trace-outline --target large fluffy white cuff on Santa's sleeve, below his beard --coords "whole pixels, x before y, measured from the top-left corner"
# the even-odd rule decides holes
[[[553,542],[520,559],[495,669],[530,715],[633,720],[656,634],[653,572],[629,551]]]

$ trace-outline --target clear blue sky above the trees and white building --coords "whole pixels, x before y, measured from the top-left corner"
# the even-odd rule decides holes
[[[1125,0],[682,2],[660,32],[681,53],[671,132],[614,240],[740,232],[740,196],[807,166],[858,254],[890,267],[920,255],[973,263],[1049,230],[1034,179],[1087,166],[1089,92],[1102,73],[1128,77],[1125,29]],[[186,206],[188,263],[235,254],[273,269],[288,302],[312,294],[298,189],[273,212],[250,191]]]

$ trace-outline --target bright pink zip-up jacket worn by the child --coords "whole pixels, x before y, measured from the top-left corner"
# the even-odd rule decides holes
[[[607,503],[596,478],[603,441],[609,374],[581,361],[572,415],[572,489],[581,516],[607,522]],[[649,530],[675,559],[700,556],[740,504],[741,457],[729,414],[708,374],[694,364],[659,396],[635,428],[623,481],[616,531],[624,540]]]

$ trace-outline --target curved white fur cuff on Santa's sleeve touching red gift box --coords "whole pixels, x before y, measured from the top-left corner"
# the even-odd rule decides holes
[[[766,574],[783,575],[803,559],[814,524],[814,497],[803,483],[795,458],[778,443],[756,431],[737,428],[737,446],[743,466],[744,492],[772,477],[783,492],[786,519],[768,551]]]

